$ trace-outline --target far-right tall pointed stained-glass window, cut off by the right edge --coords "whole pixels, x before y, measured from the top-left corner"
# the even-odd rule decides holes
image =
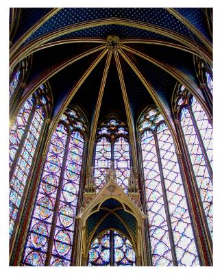
[[[212,125],[201,104],[182,85],[177,88],[175,112],[186,142],[199,201],[212,236]]]

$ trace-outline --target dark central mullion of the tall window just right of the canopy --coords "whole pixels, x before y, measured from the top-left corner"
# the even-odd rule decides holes
[[[158,138],[156,136],[156,134],[153,134],[154,139],[155,139],[155,144],[156,144],[156,153],[157,153],[157,157],[158,157],[158,165],[159,165],[159,169],[160,169],[160,179],[161,179],[161,186],[162,186],[162,195],[163,195],[163,199],[164,199],[164,208],[166,211],[166,217],[167,217],[167,225],[168,225],[168,231],[169,231],[169,240],[170,240],[170,244],[171,244],[171,253],[172,253],[172,259],[173,259],[173,265],[177,266],[177,257],[176,257],[176,253],[175,253],[175,246],[174,246],[174,240],[173,240],[173,231],[172,231],[172,227],[171,227],[171,218],[170,218],[170,213],[169,213],[169,206],[168,206],[168,200],[167,200],[167,191],[165,188],[165,184],[164,184],[164,175],[162,172],[162,162],[161,162],[161,158],[160,158],[160,149],[159,149],[159,145],[158,145]]]

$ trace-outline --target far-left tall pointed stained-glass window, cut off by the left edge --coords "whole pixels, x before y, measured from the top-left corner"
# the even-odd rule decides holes
[[[28,187],[49,108],[49,96],[44,85],[23,104],[10,131],[10,238]]]

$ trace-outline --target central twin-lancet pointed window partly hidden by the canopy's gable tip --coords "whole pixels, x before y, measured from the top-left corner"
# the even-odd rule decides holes
[[[114,162],[118,184],[127,192],[131,166],[129,132],[126,125],[115,117],[103,122],[97,131],[94,171],[97,191],[106,182],[106,171],[111,161]]]

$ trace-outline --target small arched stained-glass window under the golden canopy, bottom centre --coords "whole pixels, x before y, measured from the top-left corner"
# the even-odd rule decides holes
[[[90,246],[88,266],[135,265],[135,252],[130,240],[118,232],[110,230],[95,238]]]

